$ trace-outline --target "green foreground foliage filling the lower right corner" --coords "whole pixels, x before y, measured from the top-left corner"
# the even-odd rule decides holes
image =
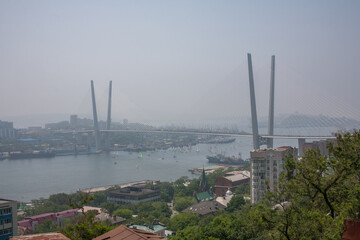
[[[360,133],[328,148],[297,162],[289,156],[279,188],[262,202],[191,223],[171,239],[341,239],[344,219],[360,212]]]

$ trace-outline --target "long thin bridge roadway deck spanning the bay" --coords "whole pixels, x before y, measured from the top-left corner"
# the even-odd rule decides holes
[[[63,133],[75,133],[75,132],[93,132],[94,130],[87,130],[87,131],[68,131]],[[229,136],[229,137],[252,137],[251,133],[228,133],[228,132],[201,132],[201,131],[182,131],[182,130],[146,130],[146,129],[139,129],[139,130],[100,130],[101,132],[134,132],[134,133],[173,133],[173,134],[194,134],[194,135],[214,135],[214,136]],[[293,136],[293,135],[260,135],[262,138],[276,138],[276,139],[336,139],[335,136]]]

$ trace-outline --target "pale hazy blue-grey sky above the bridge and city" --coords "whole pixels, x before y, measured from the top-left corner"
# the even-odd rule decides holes
[[[250,115],[360,119],[360,1],[0,0],[0,120],[100,119],[113,81],[113,120],[198,123]],[[61,120],[61,119],[59,119]],[[16,121],[15,126],[16,126]]]

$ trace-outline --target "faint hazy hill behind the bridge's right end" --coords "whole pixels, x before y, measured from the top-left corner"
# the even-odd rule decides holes
[[[324,115],[290,115],[278,124],[282,128],[296,128],[296,127],[337,127],[339,129],[358,128],[360,121],[349,118],[332,118]]]

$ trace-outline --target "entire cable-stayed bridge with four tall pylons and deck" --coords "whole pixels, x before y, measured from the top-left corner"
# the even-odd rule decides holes
[[[273,147],[273,139],[298,139],[299,153],[301,155],[302,145],[305,143],[305,139],[334,139],[334,136],[300,136],[300,135],[274,135],[274,94],[275,94],[275,56],[271,57],[271,75],[270,75],[270,99],[269,99],[269,116],[268,116],[268,132],[267,134],[259,134],[258,120],[256,112],[256,98],[251,54],[247,55],[248,71],[249,71],[249,87],[250,87],[250,103],[251,103],[251,119],[252,119],[252,133],[236,133],[236,132],[221,132],[221,131],[203,131],[203,130],[114,130],[111,129],[111,94],[112,94],[112,81],[109,84],[109,98],[108,98],[108,112],[106,129],[99,129],[94,83],[91,81],[91,93],[92,93],[92,106],[93,106],[93,119],[94,119],[94,132],[95,132],[95,144],[96,149],[100,147],[100,132],[104,132],[107,136],[105,149],[109,149],[109,133],[110,132],[141,132],[141,133],[173,133],[173,134],[194,134],[194,135],[218,135],[218,136],[233,136],[233,137],[252,137],[254,149],[259,149],[262,145],[266,145],[268,148]]]

